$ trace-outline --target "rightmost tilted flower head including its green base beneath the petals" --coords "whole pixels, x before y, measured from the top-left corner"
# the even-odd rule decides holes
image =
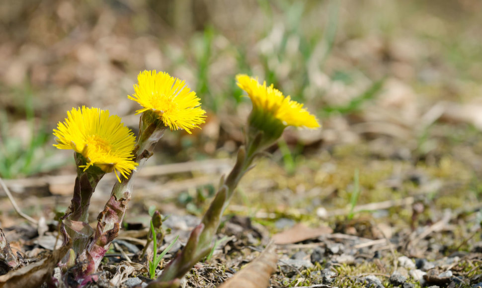
[[[253,103],[249,119],[251,127],[273,136],[281,135],[287,126],[310,129],[320,127],[316,117],[303,108],[303,104],[291,100],[290,96],[285,97],[273,84],[266,86],[266,82],[263,82],[261,85],[257,78],[243,74],[237,75],[236,79],[238,86],[246,91]]]

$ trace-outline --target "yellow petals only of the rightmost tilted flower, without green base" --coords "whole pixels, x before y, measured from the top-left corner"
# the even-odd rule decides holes
[[[263,82],[261,85],[257,79],[243,74],[237,75],[236,79],[238,86],[251,98],[256,113],[271,114],[285,126],[320,127],[316,117],[303,108],[303,104],[291,100],[290,96],[285,97],[273,84],[266,86]]]

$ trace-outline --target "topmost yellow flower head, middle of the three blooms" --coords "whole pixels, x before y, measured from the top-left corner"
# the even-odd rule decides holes
[[[198,128],[205,122],[206,112],[199,107],[200,99],[185,85],[185,81],[155,70],[140,72],[137,80],[134,95],[128,96],[144,107],[136,114],[151,110],[171,130],[184,129],[189,134],[190,129]]]

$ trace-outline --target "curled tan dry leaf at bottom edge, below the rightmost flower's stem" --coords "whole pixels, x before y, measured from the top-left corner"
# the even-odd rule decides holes
[[[236,273],[219,288],[266,288],[269,278],[276,271],[278,255],[276,246],[270,242],[259,256]]]

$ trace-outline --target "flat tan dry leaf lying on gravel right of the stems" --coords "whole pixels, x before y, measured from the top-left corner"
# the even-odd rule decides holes
[[[294,244],[308,239],[313,239],[323,234],[330,234],[333,232],[328,226],[320,226],[318,228],[310,228],[303,223],[295,224],[293,227],[284,230],[283,232],[273,235],[275,244]]]

